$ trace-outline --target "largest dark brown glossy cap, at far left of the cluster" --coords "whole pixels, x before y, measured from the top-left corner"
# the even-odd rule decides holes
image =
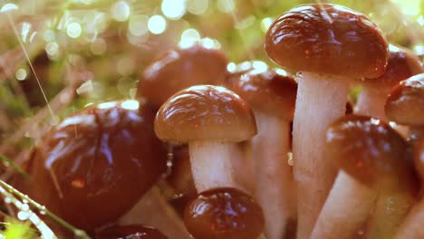
[[[166,170],[153,110],[135,100],[93,105],[63,119],[29,166],[34,199],[86,230],[116,221]],[[55,206],[56,207],[56,206]]]

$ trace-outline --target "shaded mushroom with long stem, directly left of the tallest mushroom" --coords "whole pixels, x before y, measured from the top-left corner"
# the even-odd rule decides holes
[[[274,70],[245,72],[232,88],[255,113],[258,134],[252,141],[256,197],[265,215],[265,235],[284,237],[289,220],[296,217],[295,186],[288,164],[290,122],[294,114],[296,82]]]

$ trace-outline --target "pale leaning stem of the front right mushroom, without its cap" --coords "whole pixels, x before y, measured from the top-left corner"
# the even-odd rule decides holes
[[[311,238],[353,238],[367,222],[376,199],[375,190],[341,170],[313,227]]]

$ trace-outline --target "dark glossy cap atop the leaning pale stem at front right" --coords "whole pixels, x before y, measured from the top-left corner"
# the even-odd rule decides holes
[[[381,120],[358,115],[337,119],[327,130],[326,148],[342,170],[367,186],[410,184],[407,143]]]

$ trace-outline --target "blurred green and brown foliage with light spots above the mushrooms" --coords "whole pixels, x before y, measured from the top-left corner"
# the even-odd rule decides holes
[[[367,14],[390,43],[424,56],[424,1],[334,0]],[[301,0],[0,0],[0,155],[34,143],[87,104],[135,97],[160,54],[193,41],[231,62],[262,60],[270,24]],[[0,167],[0,178],[8,175]],[[10,173],[10,172],[9,172]]]

